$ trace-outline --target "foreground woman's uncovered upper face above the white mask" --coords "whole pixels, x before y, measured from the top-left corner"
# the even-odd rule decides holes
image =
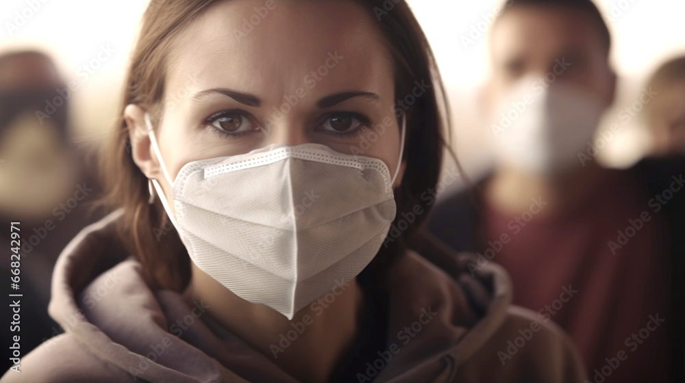
[[[393,65],[375,23],[352,1],[212,5],[169,55],[155,133],[171,179],[190,161],[305,143],[381,159],[393,174]],[[125,114],[144,126],[141,111]],[[170,195],[147,137],[134,159]]]

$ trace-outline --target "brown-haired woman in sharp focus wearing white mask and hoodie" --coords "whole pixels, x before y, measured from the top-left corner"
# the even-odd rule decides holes
[[[582,381],[501,269],[418,230],[449,120],[406,3],[153,1],[132,59],[117,210],[3,382]]]

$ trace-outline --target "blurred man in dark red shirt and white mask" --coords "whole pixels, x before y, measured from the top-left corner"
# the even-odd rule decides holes
[[[685,168],[594,160],[616,89],[610,46],[589,0],[508,1],[491,30],[485,99],[495,169],[445,198],[428,226],[477,252],[471,269],[503,265],[514,303],[559,323],[593,382],[668,382],[685,365]]]

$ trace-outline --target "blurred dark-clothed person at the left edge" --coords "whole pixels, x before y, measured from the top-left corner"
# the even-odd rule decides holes
[[[21,352],[60,332],[47,315],[53,265],[66,243],[99,215],[88,213],[97,181],[92,154],[75,146],[69,131],[69,94],[51,59],[39,51],[0,55],[0,222],[21,228]],[[0,246],[10,247],[3,230]],[[3,281],[10,263],[0,263]],[[8,298],[3,318],[10,318]],[[3,344],[11,345],[3,331]],[[11,365],[3,348],[2,366]]]

